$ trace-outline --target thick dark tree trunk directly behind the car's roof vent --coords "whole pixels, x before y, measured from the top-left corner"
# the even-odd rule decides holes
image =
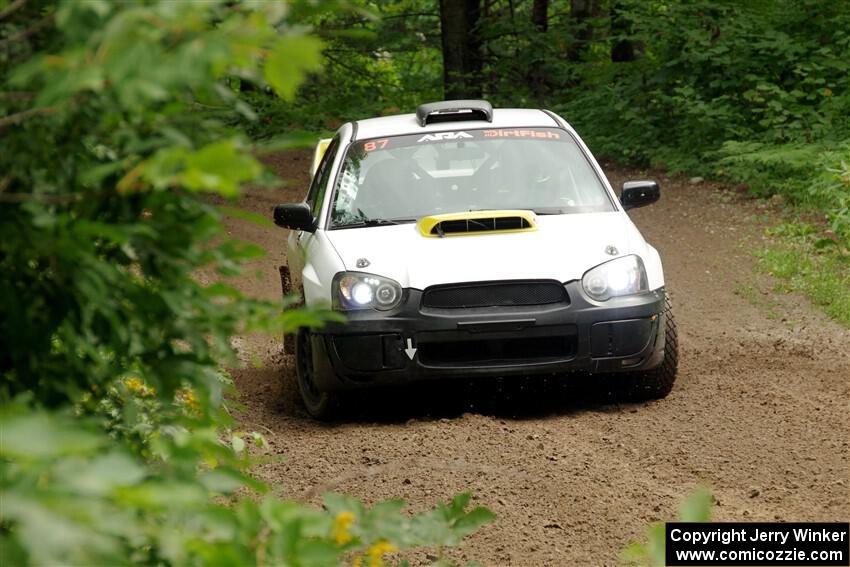
[[[440,0],[443,90],[446,99],[480,98],[480,0]]]

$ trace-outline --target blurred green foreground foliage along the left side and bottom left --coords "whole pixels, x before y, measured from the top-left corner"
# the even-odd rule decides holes
[[[322,44],[288,14],[312,5],[31,0],[0,20],[3,565],[383,565],[490,520],[466,497],[413,516],[329,497],[349,517],[246,472],[263,439],[233,430],[231,337],[334,314],[226,283],[263,251],[212,201],[269,176],[211,110],[255,118],[234,78],[292,96]]]

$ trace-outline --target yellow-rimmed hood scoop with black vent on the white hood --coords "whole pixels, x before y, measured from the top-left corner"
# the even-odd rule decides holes
[[[536,217],[531,211],[470,211],[431,215],[417,221],[422,236],[465,236],[532,232],[537,230]]]

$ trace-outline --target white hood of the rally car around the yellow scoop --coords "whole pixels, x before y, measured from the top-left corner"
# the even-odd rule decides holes
[[[643,238],[623,213],[547,215],[536,221],[537,230],[531,232],[442,238],[423,236],[413,223],[326,234],[346,270],[378,274],[416,289],[513,279],[568,282],[611,260],[609,246],[617,249],[617,256],[645,251]]]

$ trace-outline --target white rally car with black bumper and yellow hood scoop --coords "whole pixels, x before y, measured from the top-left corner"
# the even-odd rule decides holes
[[[347,389],[430,378],[605,375],[666,396],[676,327],[658,252],[562,118],[445,101],[343,125],[317,148],[285,292],[346,315],[294,338],[307,410]],[[291,287],[290,283],[291,282]],[[286,289],[289,287],[289,289]]]

